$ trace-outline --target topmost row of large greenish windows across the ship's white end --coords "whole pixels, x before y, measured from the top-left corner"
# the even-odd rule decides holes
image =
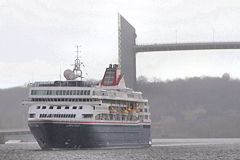
[[[90,95],[90,90],[31,90],[31,95]]]

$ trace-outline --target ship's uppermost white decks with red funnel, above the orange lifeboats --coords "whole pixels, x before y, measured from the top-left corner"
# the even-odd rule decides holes
[[[79,75],[82,79],[82,74]],[[110,64],[106,68],[101,81],[77,80],[78,74],[71,70],[64,71],[64,76],[66,81],[43,81],[31,84],[26,103],[59,104],[92,100],[147,102],[141,92],[126,87],[120,68],[116,64]]]

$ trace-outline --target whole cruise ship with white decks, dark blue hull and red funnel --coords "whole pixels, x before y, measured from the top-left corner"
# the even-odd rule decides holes
[[[101,81],[84,81],[77,57],[64,81],[34,82],[28,126],[42,149],[151,146],[148,100],[127,88],[117,64]]]

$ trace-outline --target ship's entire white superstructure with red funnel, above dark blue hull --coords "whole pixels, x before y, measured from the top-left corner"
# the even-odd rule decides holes
[[[141,92],[126,88],[118,65],[109,65],[98,84],[79,80],[35,82],[25,104],[30,106],[29,121],[151,122],[148,100]]]

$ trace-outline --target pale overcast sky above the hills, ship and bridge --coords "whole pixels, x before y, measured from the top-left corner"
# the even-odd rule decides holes
[[[87,77],[101,79],[117,63],[118,12],[139,44],[240,41],[239,0],[0,0],[0,88],[59,79],[60,66],[72,68],[76,45]],[[240,78],[239,52],[140,53],[137,76]]]

